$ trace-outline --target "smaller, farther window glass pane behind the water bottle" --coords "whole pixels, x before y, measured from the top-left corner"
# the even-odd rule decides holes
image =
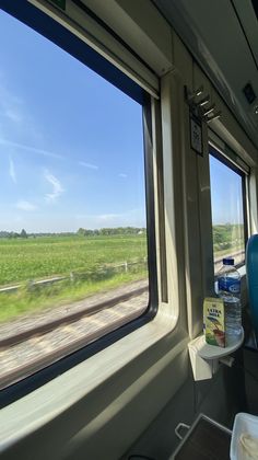
[[[211,209],[214,272],[222,258],[232,256],[235,264],[245,260],[243,177],[210,154]]]

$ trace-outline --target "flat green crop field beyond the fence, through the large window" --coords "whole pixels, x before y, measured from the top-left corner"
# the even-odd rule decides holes
[[[0,286],[96,271],[146,256],[146,240],[128,237],[0,239]]]

